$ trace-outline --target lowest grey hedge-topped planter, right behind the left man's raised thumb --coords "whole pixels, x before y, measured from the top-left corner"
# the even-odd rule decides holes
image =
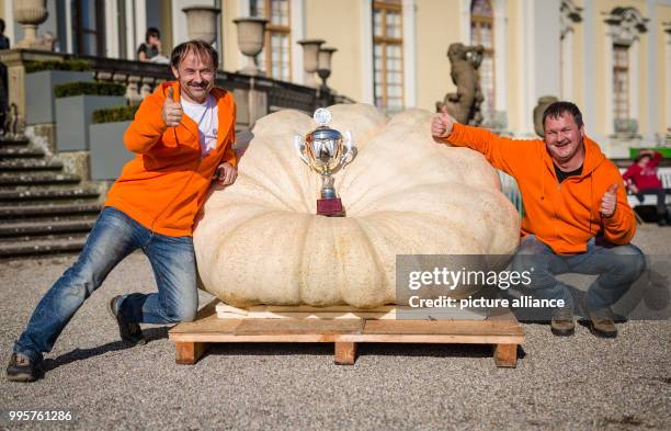
[[[91,180],[115,180],[135,155],[124,145],[124,133],[139,105],[115,106],[93,112],[91,123]]]

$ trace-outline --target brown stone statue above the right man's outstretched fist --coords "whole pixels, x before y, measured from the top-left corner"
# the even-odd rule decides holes
[[[445,94],[443,102],[436,102],[435,107],[441,112],[444,107],[457,122],[462,124],[479,125],[482,122],[480,104],[485,99],[480,90],[478,68],[482,63],[482,45],[465,46],[456,43],[450,45],[447,58],[452,72],[452,82],[456,86],[456,93]]]

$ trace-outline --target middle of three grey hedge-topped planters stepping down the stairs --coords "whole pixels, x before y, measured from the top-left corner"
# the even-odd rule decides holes
[[[56,147],[59,151],[89,149],[93,111],[124,104],[126,87],[110,82],[70,82],[55,87]]]

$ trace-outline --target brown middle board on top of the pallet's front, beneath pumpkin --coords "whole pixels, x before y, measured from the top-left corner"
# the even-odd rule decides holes
[[[364,320],[249,319],[235,329],[236,336],[295,336],[361,333]]]

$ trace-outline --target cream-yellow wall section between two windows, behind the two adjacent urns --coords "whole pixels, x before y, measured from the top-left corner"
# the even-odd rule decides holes
[[[322,46],[338,48],[332,57],[329,87],[356,101],[364,97],[361,9],[360,0],[338,0],[337,4],[331,0],[305,2],[305,38],[325,39]],[[297,46],[294,53],[303,55],[303,48]]]

